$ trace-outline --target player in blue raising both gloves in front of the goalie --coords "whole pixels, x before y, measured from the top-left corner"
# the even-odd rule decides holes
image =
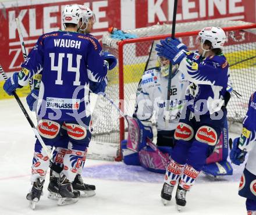
[[[229,70],[221,49],[225,39],[221,28],[205,27],[198,34],[197,52],[179,51],[171,38],[162,40],[156,48],[159,56],[179,64],[179,69],[189,80],[187,106],[183,108],[175,131],[177,141],[161,192],[163,203],[166,203],[178,184],[176,204],[179,210],[186,205],[186,193],[213,152],[224,126]]]

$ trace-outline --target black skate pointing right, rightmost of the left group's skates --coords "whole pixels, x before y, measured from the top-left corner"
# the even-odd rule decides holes
[[[80,197],[90,197],[96,194],[95,186],[91,184],[84,184],[83,178],[80,174],[77,174],[76,178],[74,178],[72,187],[80,192]]]

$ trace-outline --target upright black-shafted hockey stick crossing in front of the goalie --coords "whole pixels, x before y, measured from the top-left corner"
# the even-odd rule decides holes
[[[175,0],[173,6],[173,18],[172,18],[172,39],[175,38],[175,27],[176,27],[176,15],[177,15],[177,3],[178,0]],[[165,109],[165,127],[168,127],[169,118],[170,118],[170,87],[172,86],[172,63],[169,66],[169,76],[168,76],[168,87],[167,87],[167,101]]]

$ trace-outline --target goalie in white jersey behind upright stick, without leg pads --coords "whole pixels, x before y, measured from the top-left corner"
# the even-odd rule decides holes
[[[186,46],[184,45],[183,48]],[[160,66],[145,71],[138,84],[134,117],[139,119],[144,126],[149,126],[150,119],[155,112],[157,145],[173,146],[173,136],[179,123],[180,112],[186,103],[185,91],[188,82],[184,80],[182,71],[177,70],[177,66],[173,66],[170,114],[169,120],[165,119],[170,62],[164,57],[159,57],[158,61]],[[167,123],[166,120],[168,120]]]

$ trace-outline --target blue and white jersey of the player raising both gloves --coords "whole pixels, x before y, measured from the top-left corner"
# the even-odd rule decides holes
[[[197,52],[187,52],[179,69],[190,82],[186,99],[193,112],[212,114],[221,110],[229,78],[229,64],[224,55],[202,59]]]

